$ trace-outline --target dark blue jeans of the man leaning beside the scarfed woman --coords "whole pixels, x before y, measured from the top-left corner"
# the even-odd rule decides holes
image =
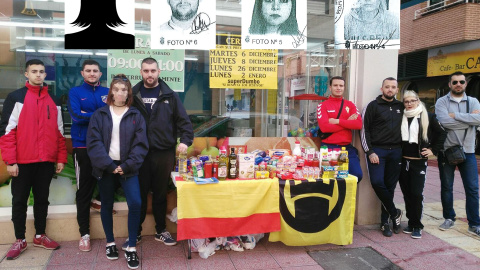
[[[397,215],[397,208],[393,202],[395,188],[397,187],[402,165],[402,148],[382,149],[372,148],[377,154],[380,164],[370,163],[367,156],[368,173],[370,183],[377,197],[382,202],[382,224],[388,223],[389,217]]]

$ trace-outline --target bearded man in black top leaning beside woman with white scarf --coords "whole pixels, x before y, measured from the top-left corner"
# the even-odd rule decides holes
[[[370,182],[382,202],[380,230],[384,236],[400,232],[402,211],[395,207],[393,195],[400,176],[402,162],[401,124],[403,104],[395,99],[398,92],[397,80],[388,77],[380,88],[382,95],[370,102],[363,111],[361,130],[362,147],[367,154]]]

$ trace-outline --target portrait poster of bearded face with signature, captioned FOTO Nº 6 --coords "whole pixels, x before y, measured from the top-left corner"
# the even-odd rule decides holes
[[[215,49],[216,2],[151,1],[152,49]]]

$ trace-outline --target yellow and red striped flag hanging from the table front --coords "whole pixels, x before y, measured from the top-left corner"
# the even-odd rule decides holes
[[[177,240],[280,230],[278,179],[177,185]]]

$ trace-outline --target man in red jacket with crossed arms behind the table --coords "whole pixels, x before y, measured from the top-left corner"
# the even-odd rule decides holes
[[[320,130],[323,133],[332,133],[328,138],[322,140],[322,146],[326,145],[328,149],[345,147],[348,151],[349,173],[355,175],[360,182],[363,173],[358,158],[358,150],[352,145],[352,130],[362,128],[362,118],[357,106],[343,98],[343,92],[345,91],[345,79],[343,77],[332,77],[328,88],[331,92],[330,97],[318,104],[317,107]],[[340,108],[341,113],[339,115]]]

